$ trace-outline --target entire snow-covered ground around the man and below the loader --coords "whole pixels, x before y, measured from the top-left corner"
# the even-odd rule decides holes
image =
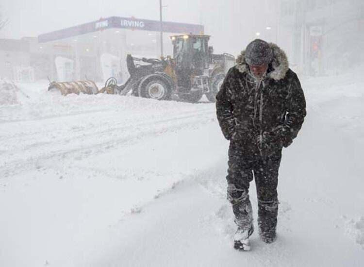
[[[0,266],[364,266],[363,71],[302,81],[278,239],[249,252],[232,248],[214,104],[20,84],[0,105]]]

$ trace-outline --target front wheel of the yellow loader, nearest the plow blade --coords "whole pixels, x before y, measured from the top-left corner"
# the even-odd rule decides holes
[[[172,90],[162,79],[152,79],[148,81],[140,91],[140,96],[155,100],[170,100]]]

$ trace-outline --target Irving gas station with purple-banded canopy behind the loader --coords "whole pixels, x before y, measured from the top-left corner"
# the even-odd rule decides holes
[[[169,35],[204,33],[197,24],[163,22],[165,54],[172,54]],[[160,21],[108,17],[38,38],[0,40],[0,77],[15,81],[49,78],[52,81],[115,77],[124,83],[129,73],[126,56],[160,57]],[[1,64],[1,63],[0,63]],[[19,75],[28,70],[29,79]],[[22,71],[22,72],[21,72]]]

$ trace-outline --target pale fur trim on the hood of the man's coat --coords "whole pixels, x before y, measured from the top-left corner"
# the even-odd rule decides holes
[[[269,45],[273,50],[273,60],[271,62],[273,70],[267,74],[267,77],[278,81],[285,77],[289,69],[288,58],[285,52],[281,50],[279,46],[273,43],[269,43]],[[236,68],[241,73],[248,72],[249,68],[247,62],[245,61],[245,50],[241,51],[240,55],[237,57]]]

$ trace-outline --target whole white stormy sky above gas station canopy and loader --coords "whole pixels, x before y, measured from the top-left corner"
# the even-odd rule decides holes
[[[236,53],[255,37],[257,31],[264,32],[268,24],[274,26],[276,2],[163,0],[163,5],[167,5],[164,20],[201,23],[205,25],[205,33],[213,35],[216,52]],[[159,20],[159,0],[1,0],[0,8],[9,19],[7,27],[0,31],[0,38],[38,36],[100,17],[133,16]]]

